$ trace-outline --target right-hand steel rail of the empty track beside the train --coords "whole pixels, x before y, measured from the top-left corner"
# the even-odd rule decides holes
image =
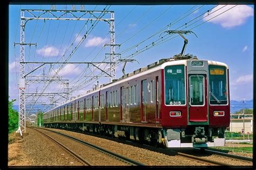
[[[39,129],[44,129],[44,128],[39,128]],[[124,156],[122,156],[122,155],[119,155],[119,154],[117,154],[117,153],[113,153],[113,152],[111,152],[111,151],[105,150],[105,149],[102,148],[102,147],[99,147],[99,146],[96,146],[96,145],[87,143],[86,141],[80,140],[80,139],[78,139],[78,138],[71,137],[71,136],[68,136],[68,135],[66,135],[66,134],[63,134],[63,133],[60,133],[60,132],[56,132],[56,131],[53,131],[53,130],[49,130],[49,129],[44,129],[44,130],[48,130],[48,131],[51,131],[51,132],[55,132],[55,133],[60,134],[60,135],[62,135],[62,136],[64,136],[64,137],[73,139],[73,140],[75,140],[75,141],[77,141],[77,142],[79,142],[79,143],[81,143],[81,144],[83,144],[83,145],[92,147],[92,148],[94,148],[94,149],[96,149],[96,150],[98,150],[98,151],[100,151],[100,152],[103,152],[103,153],[105,153],[105,154],[107,154],[107,155],[110,155],[110,156],[112,156],[112,157],[115,157],[116,159],[119,159],[119,160],[121,160],[121,161],[123,161],[123,162],[126,162],[127,164],[130,164],[130,165],[137,165],[137,166],[145,166],[145,164],[142,164],[142,163],[137,162],[137,161],[135,161],[135,160],[132,160],[132,159],[130,159],[130,158],[126,158],[126,157],[124,157]]]

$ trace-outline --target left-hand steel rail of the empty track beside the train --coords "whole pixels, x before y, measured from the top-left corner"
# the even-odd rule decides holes
[[[46,136],[47,138],[49,138],[50,140],[54,141],[55,143],[57,143],[60,147],[62,147],[66,152],[70,153],[74,158],[76,158],[79,162],[81,162],[83,165],[89,165],[89,166],[92,166],[92,164],[85,160],[84,158],[80,157],[80,155],[78,155],[76,152],[73,152],[72,150],[70,150],[70,148],[64,146],[62,143],[60,143],[59,141],[53,139],[52,137],[50,137],[48,134],[40,131],[40,130],[37,130],[36,128],[31,128],[33,130],[36,130],[38,132],[41,132],[42,134],[44,134],[44,136]]]

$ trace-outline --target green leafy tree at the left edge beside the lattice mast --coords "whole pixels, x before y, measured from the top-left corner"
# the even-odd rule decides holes
[[[9,108],[9,122],[8,122],[8,129],[9,133],[18,129],[18,122],[19,122],[19,114],[16,110],[14,110],[14,102],[16,99],[8,101],[8,108]]]

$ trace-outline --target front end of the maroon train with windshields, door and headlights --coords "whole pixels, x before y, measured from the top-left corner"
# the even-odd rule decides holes
[[[207,60],[166,62],[161,124],[166,147],[225,146],[230,125],[228,67]]]

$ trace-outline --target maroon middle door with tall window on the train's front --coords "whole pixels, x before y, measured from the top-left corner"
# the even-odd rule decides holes
[[[188,75],[189,121],[207,122],[206,74]]]

